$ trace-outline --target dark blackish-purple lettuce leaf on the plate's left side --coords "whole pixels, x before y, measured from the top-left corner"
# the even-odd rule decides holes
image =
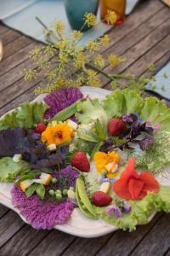
[[[0,156],[22,154],[23,160],[32,164],[32,168],[53,167],[63,164],[68,146],[57,148],[55,153],[48,151],[41,141],[41,135],[25,128],[0,131]]]

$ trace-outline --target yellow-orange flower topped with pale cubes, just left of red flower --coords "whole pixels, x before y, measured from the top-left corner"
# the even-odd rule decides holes
[[[94,154],[94,162],[99,173],[106,171],[107,177],[115,177],[119,168],[119,155],[116,152],[111,151],[109,153],[96,152]]]

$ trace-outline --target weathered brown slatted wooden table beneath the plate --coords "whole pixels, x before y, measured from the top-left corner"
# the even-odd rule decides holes
[[[111,44],[103,49],[127,58],[118,72],[147,73],[149,63],[156,71],[170,59],[170,9],[159,0],[143,0],[122,26],[110,32]],[[23,81],[24,68],[31,67],[30,50],[39,44],[0,23],[4,57],[0,62],[0,115],[34,98],[37,81]],[[105,67],[109,70],[109,67]],[[103,79],[106,88],[109,81]],[[170,214],[156,217],[133,233],[122,230],[95,239],[82,239],[57,230],[33,230],[15,212],[0,206],[0,255],[170,255]]]

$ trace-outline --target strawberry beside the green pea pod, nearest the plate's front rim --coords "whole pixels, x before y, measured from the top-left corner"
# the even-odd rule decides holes
[[[96,191],[94,192],[94,195],[93,195],[93,201],[94,201],[94,205],[98,207],[104,207],[109,203],[111,203],[112,198],[110,195],[106,194],[103,191]]]

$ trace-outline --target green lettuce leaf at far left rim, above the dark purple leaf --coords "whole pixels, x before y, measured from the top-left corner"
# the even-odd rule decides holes
[[[0,130],[14,127],[32,128],[38,122],[43,122],[47,109],[48,105],[43,102],[25,102],[0,119]]]

